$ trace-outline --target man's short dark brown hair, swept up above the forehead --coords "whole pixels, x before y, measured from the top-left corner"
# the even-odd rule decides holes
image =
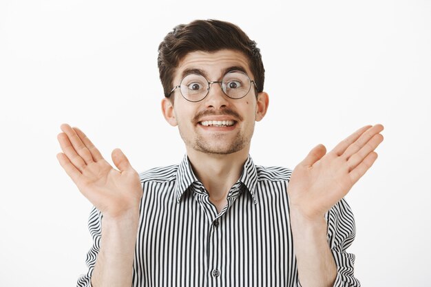
[[[157,64],[165,96],[169,96],[174,87],[172,81],[178,64],[189,52],[216,52],[223,49],[236,50],[246,56],[257,92],[262,92],[265,70],[256,42],[233,23],[196,20],[187,25],[177,25],[158,46]]]

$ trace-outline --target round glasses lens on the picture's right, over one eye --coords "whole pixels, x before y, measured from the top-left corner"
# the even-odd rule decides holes
[[[242,98],[251,87],[249,76],[240,71],[229,72],[224,75],[222,89],[230,98]]]

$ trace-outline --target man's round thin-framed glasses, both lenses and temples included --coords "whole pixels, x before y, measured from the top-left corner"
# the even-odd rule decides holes
[[[190,102],[199,102],[203,100],[209,93],[211,84],[218,83],[222,87],[222,91],[229,98],[244,98],[249,93],[251,83],[257,89],[255,81],[250,80],[249,76],[241,71],[227,72],[222,81],[208,81],[207,78],[201,74],[187,74],[182,78],[180,85],[171,90],[168,97],[174,92],[176,88],[180,88],[182,96]]]

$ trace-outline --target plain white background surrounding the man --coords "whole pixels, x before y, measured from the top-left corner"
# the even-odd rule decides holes
[[[185,152],[160,113],[157,50],[193,19],[257,41],[269,113],[257,164],[295,165],[357,128],[385,126],[379,158],[347,196],[363,286],[431,286],[430,1],[0,2],[0,286],[74,286],[91,205],[56,160],[61,123],[138,171]]]

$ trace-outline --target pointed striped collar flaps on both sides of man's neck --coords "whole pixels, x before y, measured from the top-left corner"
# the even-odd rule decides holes
[[[242,168],[242,173],[238,181],[244,184],[246,189],[248,189],[249,193],[251,194],[253,201],[256,203],[255,187],[257,183],[257,170],[250,156],[248,156],[246,162],[244,163],[244,167]],[[186,154],[178,166],[176,173],[176,184],[174,191],[176,193],[177,202],[180,202],[182,195],[194,182],[202,185],[198,178],[196,178],[195,173],[193,173],[189,158]]]

